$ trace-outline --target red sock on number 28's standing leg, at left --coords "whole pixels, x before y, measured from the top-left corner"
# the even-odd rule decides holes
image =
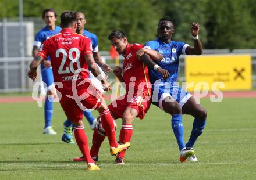
[[[88,147],[88,139],[86,136],[86,132],[84,132],[83,126],[74,127],[74,138],[76,138],[76,143],[81,150],[81,153],[84,155],[84,159],[88,163],[95,163],[93,159],[91,159],[90,150]]]

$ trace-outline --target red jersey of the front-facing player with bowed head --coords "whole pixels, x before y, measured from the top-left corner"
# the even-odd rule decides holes
[[[123,60],[123,79],[126,84],[126,93],[151,94],[151,84],[148,67],[136,56],[136,52],[143,48],[140,44],[127,44],[126,55]],[[129,92],[130,91],[130,92]]]

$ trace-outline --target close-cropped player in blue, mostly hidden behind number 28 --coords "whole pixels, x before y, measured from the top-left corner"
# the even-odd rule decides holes
[[[84,13],[76,12],[76,19],[77,19],[77,29],[76,33],[83,34],[86,37],[90,38],[91,44],[93,47],[93,57],[95,62],[98,64],[99,67],[104,71],[104,73],[110,73],[112,69],[108,66],[108,64],[104,63],[101,59],[101,56],[98,52],[98,37],[97,35],[90,33],[87,30],[84,30],[84,25],[86,24],[86,18]],[[90,124],[91,129],[95,128],[97,120],[93,117],[90,111],[84,111],[84,116],[86,116],[88,123]],[[72,122],[67,119],[64,122],[64,133],[62,135],[62,141],[66,143],[73,143],[72,140]]]

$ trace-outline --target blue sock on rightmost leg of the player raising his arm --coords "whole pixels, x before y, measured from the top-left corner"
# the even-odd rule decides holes
[[[189,141],[186,144],[186,147],[193,147],[195,141],[197,141],[198,136],[202,134],[202,131],[204,130],[206,121],[199,120],[197,118],[194,119],[193,128],[191,131],[191,135],[189,138]]]

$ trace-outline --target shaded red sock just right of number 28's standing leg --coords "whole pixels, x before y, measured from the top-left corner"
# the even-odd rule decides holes
[[[93,140],[91,141],[93,144],[90,150],[91,157],[98,156],[99,148],[101,147],[101,144],[104,141],[104,139],[105,136],[100,135],[97,129],[95,128],[93,131]]]

